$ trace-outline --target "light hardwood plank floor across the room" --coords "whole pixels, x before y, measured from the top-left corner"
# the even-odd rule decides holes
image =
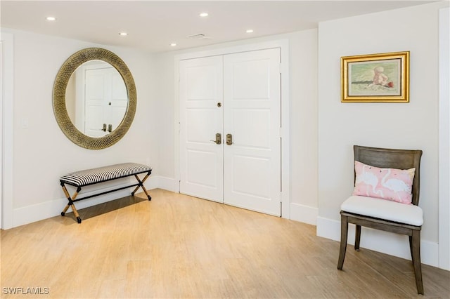
[[[349,246],[339,271],[338,242],[312,225],[150,194],[81,210],[82,224],[68,213],[2,230],[0,297],[449,298],[448,271],[423,265],[419,296],[409,260]]]

